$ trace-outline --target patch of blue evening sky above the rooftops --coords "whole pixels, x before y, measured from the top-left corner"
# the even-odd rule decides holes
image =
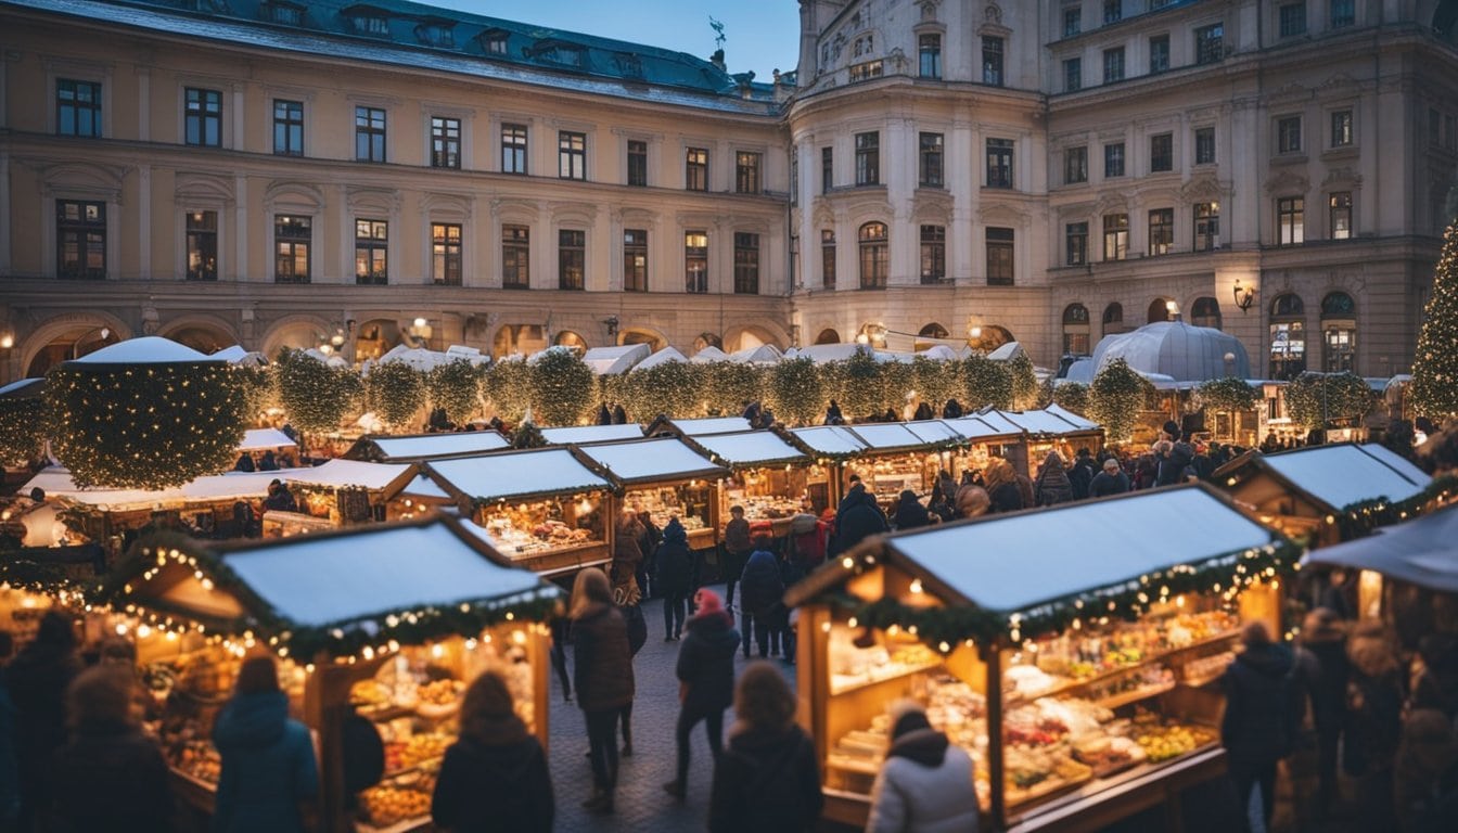
[[[506,20],[539,23],[633,44],[647,44],[709,58],[714,31],[725,25],[729,71],[754,70],[770,83],[771,71],[790,71],[799,61],[800,12],[796,0],[421,0]]]

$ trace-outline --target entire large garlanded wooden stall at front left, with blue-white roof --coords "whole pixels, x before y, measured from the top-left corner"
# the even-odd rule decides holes
[[[149,538],[104,589],[128,617],[117,632],[136,638],[152,725],[185,804],[211,813],[213,721],[243,656],[268,652],[290,712],[315,735],[330,833],[430,829],[461,696],[483,671],[502,674],[547,744],[544,623],[558,595],[445,516],[261,543]],[[385,773],[350,795],[344,725],[354,713],[383,741]]]

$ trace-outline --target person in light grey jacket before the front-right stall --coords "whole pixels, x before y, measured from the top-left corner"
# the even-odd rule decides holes
[[[891,721],[866,833],[977,833],[972,757],[933,729],[914,700],[895,703]]]

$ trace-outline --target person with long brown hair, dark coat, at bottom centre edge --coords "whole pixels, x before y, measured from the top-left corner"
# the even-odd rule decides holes
[[[819,820],[815,744],[795,722],[795,693],[780,670],[754,662],[735,687],[729,748],[714,764],[710,833],[806,833]]]

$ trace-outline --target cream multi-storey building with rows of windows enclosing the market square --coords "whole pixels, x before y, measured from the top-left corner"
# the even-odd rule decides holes
[[[0,379],[144,333],[1056,366],[1171,315],[1389,376],[1454,213],[1458,0],[802,0],[773,83],[394,0],[0,20]]]

